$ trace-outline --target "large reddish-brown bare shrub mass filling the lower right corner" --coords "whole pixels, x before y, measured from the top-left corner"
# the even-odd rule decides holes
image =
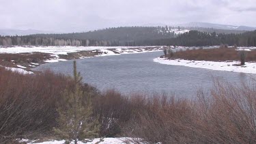
[[[134,143],[255,143],[256,89],[216,81],[197,99],[154,97],[141,104],[124,132]]]

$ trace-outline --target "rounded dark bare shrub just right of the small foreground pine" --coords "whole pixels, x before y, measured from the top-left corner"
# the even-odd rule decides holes
[[[101,121],[100,136],[117,136],[121,126],[131,115],[128,98],[114,89],[104,91],[101,96],[93,99],[94,114]]]

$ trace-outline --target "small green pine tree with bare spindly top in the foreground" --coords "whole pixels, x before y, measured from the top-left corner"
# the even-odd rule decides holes
[[[78,139],[94,139],[98,136],[100,124],[98,119],[92,117],[91,98],[86,95],[79,85],[82,80],[80,73],[76,72],[76,61],[74,61],[74,90],[66,89],[63,92],[63,104],[59,104],[57,112],[59,117],[58,128],[53,128],[56,134],[66,139],[66,143]],[[83,97],[87,96],[86,102]],[[87,141],[85,141],[87,142]]]

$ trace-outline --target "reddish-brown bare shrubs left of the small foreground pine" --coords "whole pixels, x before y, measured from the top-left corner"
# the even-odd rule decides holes
[[[70,80],[50,71],[20,75],[0,68],[0,141],[51,130],[55,102]]]

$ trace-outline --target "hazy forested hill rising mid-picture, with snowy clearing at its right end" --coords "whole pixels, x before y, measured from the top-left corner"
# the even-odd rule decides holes
[[[79,39],[79,40],[106,40],[106,41],[141,41],[156,40],[162,38],[174,38],[173,27],[116,27],[89,31],[84,33],[63,34],[35,34],[33,37]],[[182,29],[180,29],[181,31]]]

